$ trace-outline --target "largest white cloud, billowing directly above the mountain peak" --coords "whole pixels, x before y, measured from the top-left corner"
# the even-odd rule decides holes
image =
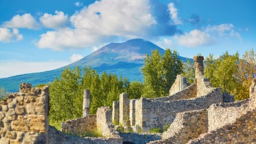
[[[37,46],[50,49],[74,49],[104,43],[115,36],[135,38],[143,36],[147,28],[156,24],[148,0],[102,0],[70,17],[74,26],[41,35]]]

